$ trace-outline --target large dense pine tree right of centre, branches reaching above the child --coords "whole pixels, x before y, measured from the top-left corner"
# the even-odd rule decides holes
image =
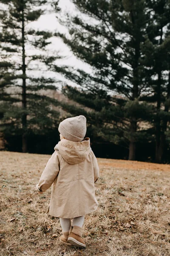
[[[57,66],[54,70],[80,86],[67,85],[63,91],[93,110],[87,113],[88,122],[97,126],[98,134],[113,143],[123,139],[129,145],[128,159],[135,160],[136,142],[147,135],[139,125],[151,118],[150,107],[140,102],[141,96],[150,93],[141,48],[150,12],[144,0],[72,2],[79,14],[68,20],[70,37],[60,36],[92,71]],[[78,113],[74,106],[67,110]]]

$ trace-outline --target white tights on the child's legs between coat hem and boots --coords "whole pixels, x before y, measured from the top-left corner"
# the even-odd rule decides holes
[[[83,223],[85,220],[85,215],[82,215],[80,217],[77,218],[73,218],[73,223],[72,226],[78,226],[78,227],[82,227]],[[61,227],[62,227],[62,231],[63,232],[68,232],[71,228],[71,219],[66,219],[66,218],[59,218]]]

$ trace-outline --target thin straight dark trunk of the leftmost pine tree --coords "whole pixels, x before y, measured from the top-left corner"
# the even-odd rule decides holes
[[[26,55],[25,55],[25,24],[24,24],[24,6],[22,10],[22,71],[23,71],[23,85],[22,85],[22,108],[25,111],[22,116],[22,145],[23,153],[27,152],[27,114],[26,114]]]

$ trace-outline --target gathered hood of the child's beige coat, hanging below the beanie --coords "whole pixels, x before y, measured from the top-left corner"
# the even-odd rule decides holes
[[[59,151],[67,163],[81,163],[91,152],[90,138],[85,138],[81,142],[62,139],[54,149]]]

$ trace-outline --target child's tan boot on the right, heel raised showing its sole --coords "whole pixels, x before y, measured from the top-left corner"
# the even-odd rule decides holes
[[[67,241],[76,247],[85,248],[85,241],[82,239],[82,227],[74,226]]]

